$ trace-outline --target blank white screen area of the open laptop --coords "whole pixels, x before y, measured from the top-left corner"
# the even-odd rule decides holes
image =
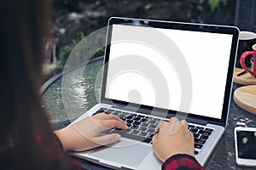
[[[141,30],[139,31],[139,29]],[[180,107],[183,94],[179,73],[172,63],[172,57],[176,57],[175,55],[166,56],[162,54],[160,50],[150,46],[147,40],[144,42],[114,41],[115,37],[121,34],[129,35],[137,31],[142,32],[142,30],[146,34],[148,29],[160,31],[170,38],[183,54],[183,58],[189,66],[192,80],[192,99],[189,111]],[[113,25],[108,74],[115,75],[115,77],[107,77],[105,98],[220,119],[231,43],[232,35],[224,33]],[[131,55],[148,59],[165,77],[166,82],[160,83],[166,83],[168,86],[169,90],[166,93],[169,96],[169,101],[167,104],[166,102],[155,101],[156,93],[161,90],[156,89],[156,87],[160,88],[160,86],[154,86],[150,77],[145,76],[141,70],[131,69],[130,71],[116,72],[114,68],[116,65],[112,65],[113,60]],[[144,63],[140,65],[146,70],[152,69],[154,71],[155,69]],[[129,62],[119,62],[119,67],[134,68],[132,63]]]

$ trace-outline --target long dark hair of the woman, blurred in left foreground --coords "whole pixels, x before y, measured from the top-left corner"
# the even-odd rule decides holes
[[[52,29],[50,11],[49,0],[1,2],[0,169],[70,167],[38,91],[44,42]]]

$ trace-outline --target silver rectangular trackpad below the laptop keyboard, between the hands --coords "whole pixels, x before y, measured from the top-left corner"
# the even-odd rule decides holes
[[[112,144],[111,147],[106,146],[94,150],[93,153],[90,153],[90,156],[96,156],[129,167],[138,167],[151,150],[151,146],[142,142],[122,139],[120,142]]]

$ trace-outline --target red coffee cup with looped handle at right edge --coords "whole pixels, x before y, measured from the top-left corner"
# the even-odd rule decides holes
[[[253,55],[253,70],[247,68],[247,65],[245,64],[245,59],[249,57],[249,55]],[[253,77],[256,77],[256,43],[253,45],[253,51],[246,51],[241,54],[240,63],[244,70],[253,75]]]

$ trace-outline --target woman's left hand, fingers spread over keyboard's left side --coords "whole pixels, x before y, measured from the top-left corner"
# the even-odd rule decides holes
[[[54,133],[61,140],[64,151],[82,151],[118,141],[121,136],[117,133],[100,136],[102,131],[113,127],[128,128],[126,122],[119,119],[119,117],[100,113]]]

